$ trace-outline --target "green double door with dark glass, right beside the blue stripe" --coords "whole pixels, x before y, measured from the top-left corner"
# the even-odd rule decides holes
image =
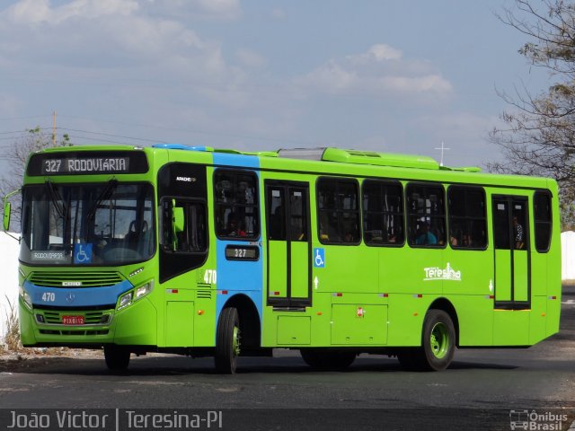
[[[311,305],[309,184],[265,181],[268,231],[268,304]]]

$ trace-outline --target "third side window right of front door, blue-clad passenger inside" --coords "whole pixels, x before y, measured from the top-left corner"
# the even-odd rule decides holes
[[[443,186],[410,183],[407,185],[406,194],[410,245],[444,247],[446,216]]]

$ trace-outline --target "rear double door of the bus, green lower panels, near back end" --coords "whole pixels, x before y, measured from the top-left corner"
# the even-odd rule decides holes
[[[526,310],[531,304],[527,198],[493,197],[495,308]]]

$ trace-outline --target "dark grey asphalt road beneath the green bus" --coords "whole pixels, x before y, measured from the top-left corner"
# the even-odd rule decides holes
[[[30,359],[0,373],[0,407],[226,409],[226,429],[510,429],[510,410],[527,410],[566,414],[567,429],[575,414],[575,287],[563,289],[559,334],[528,349],[458,350],[441,373],[403,371],[387,356],[360,356],[346,372],[324,373],[288,350],[241,359],[235,375],[216,374],[209,358],[141,356],[124,375],[109,374],[99,358]]]

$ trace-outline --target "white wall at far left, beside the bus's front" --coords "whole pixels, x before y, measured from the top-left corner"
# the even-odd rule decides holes
[[[14,234],[14,236],[17,236]],[[18,253],[20,244],[4,232],[0,232],[0,342],[6,331],[8,301],[18,303]]]

